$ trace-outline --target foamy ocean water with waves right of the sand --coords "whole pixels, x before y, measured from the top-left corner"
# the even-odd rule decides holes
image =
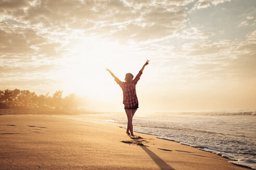
[[[126,128],[126,115],[111,121]],[[256,169],[256,111],[135,113],[133,126],[134,132],[189,145]]]

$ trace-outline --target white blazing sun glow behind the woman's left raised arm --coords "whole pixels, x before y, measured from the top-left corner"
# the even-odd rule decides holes
[[[125,69],[122,63],[128,58],[127,50],[116,42],[104,39],[76,40],[70,45],[73,57],[63,64],[65,68],[60,72],[65,88],[100,101],[111,102],[120,98],[121,89],[105,69],[112,68],[116,76],[123,80]]]

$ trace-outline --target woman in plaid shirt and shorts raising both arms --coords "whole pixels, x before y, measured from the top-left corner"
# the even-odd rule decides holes
[[[142,69],[139,70],[139,73],[133,80],[133,75],[131,73],[127,73],[125,75],[125,82],[120,81],[108,68],[106,70],[111,74],[111,76],[114,78],[114,81],[116,81],[119,86],[123,90],[123,104],[124,104],[124,110],[127,115],[127,134],[129,133],[129,130],[131,132],[131,135],[133,135],[133,116],[138,108],[138,98],[136,95],[136,89],[135,85],[137,84],[140,76],[142,75],[142,72],[146,65],[148,65],[149,60],[143,65]]]

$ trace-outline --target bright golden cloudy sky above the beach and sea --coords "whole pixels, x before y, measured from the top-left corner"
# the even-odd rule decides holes
[[[0,89],[76,93],[123,111],[134,76],[139,110],[256,108],[256,1],[0,0]]]

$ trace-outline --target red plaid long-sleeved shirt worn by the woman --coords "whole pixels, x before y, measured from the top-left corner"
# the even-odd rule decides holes
[[[117,83],[123,90],[123,104],[125,108],[132,108],[136,106],[136,104],[138,104],[135,85],[137,84],[141,75],[142,71],[139,71],[139,73],[131,83],[122,82],[118,78],[114,79],[114,81],[117,81]]]

